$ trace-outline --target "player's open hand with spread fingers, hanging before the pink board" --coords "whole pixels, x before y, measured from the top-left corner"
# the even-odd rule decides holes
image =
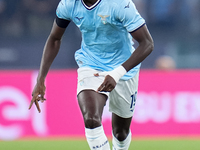
[[[31,103],[29,105],[29,109],[31,109],[33,103],[35,103],[35,106],[36,106],[38,112],[39,113],[41,112],[38,102],[41,101],[43,103],[46,100],[44,98],[45,90],[46,90],[46,87],[45,87],[44,83],[37,83],[35,85],[35,88],[32,92],[32,99],[31,99]]]

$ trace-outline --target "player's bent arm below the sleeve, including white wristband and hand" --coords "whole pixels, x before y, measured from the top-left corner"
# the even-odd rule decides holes
[[[126,72],[141,63],[153,51],[154,42],[145,24],[130,34],[139,43],[139,46],[121,66],[109,72],[95,74],[95,76],[105,75],[104,82],[97,91],[111,92]]]

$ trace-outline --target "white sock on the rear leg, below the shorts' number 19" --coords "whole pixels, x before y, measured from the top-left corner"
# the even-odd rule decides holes
[[[124,141],[118,141],[117,138],[113,135],[112,144],[113,150],[128,150],[131,143],[131,132]]]

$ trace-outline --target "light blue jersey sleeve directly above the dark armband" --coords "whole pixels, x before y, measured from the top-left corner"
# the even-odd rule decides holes
[[[60,19],[71,20],[70,0],[61,0],[56,9],[56,16]]]

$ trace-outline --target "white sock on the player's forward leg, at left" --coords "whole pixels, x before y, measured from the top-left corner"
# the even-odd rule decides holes
[[[85,128],[85,135],[91,150],[110,150],[103,126],[94,129]]]

